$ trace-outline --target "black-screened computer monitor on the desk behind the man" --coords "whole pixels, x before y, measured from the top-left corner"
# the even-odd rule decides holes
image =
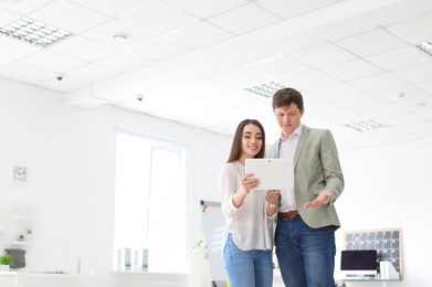
[[[376,276],[377,251],[343,251],[340,270],[345,276]]]

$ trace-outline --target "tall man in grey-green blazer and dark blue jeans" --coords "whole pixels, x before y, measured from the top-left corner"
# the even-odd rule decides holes
[[[266,157],[294,160],[294,189],[281,190],[275,236],[282,278],[288,287],[334,287],[340,223],[333,203],[344,190],[335,140],[329,130],[301,123],[305,109],[298,91],[277,91],[272,105],[282,132]]]

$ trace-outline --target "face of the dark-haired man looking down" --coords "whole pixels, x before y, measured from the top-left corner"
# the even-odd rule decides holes
[[[304,111],[305,109],[299,110],[296,104],[274,109],[277,124],[285,138],[289,137],[289,135],[299,126]]]

